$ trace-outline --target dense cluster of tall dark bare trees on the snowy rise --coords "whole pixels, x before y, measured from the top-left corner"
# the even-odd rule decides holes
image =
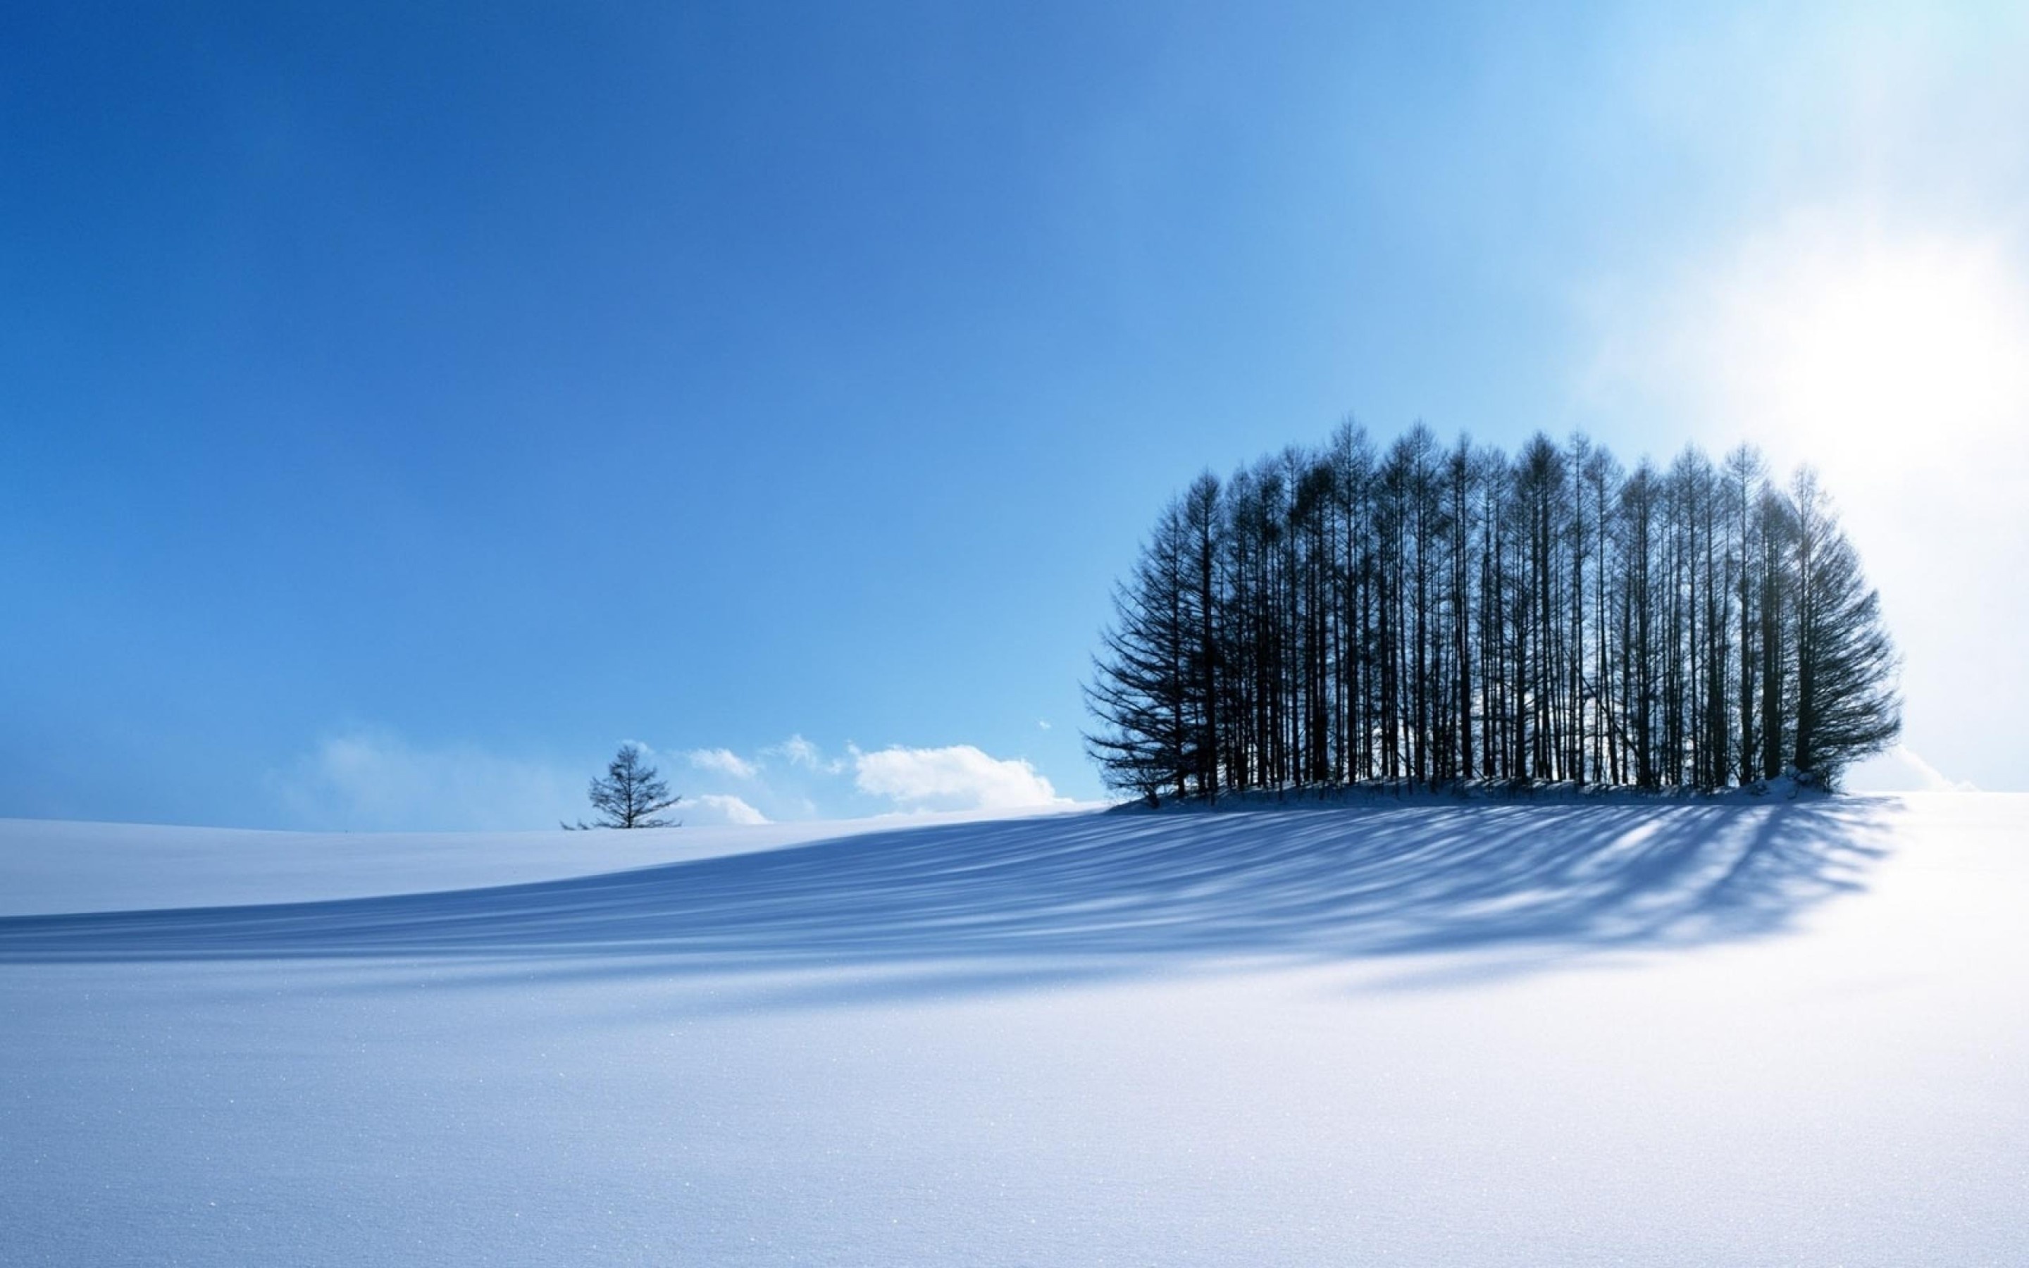
[[[1826,785],[1893,743],[1895,649],[1806,469],[1623,469],[1347,422],[1165,507],[1086,736],[1150,799],[1402,781]]]

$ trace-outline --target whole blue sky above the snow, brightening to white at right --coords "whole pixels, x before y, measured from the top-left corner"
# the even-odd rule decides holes
[[[1096,797],[1155,511],[1345,414],[1812,456],[1911,761],[2029,787],[2023,65],[1999,6],[8,6],[0,814],[536,828],[627,738],[704,818]]]

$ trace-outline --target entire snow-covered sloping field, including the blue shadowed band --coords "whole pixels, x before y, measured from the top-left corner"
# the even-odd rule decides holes
[[[0,826],[0,1262],[2029,1262],[2029,797],[712,834]]]

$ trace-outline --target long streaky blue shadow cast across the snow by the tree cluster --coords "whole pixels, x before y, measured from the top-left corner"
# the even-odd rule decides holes
[[[10,917],[0,964],[830,968],[968,992],[1232,958],[1694,945],[1859,889],[1885,818],[1836,799],[1055,816],[497,889]]]

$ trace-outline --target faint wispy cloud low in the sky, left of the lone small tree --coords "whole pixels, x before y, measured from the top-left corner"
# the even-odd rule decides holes
[[[325,738],[270,775],[304,828],[359,832],[554,828],[584,807],[586,777],[467,745],[420,749],[386,730]]]

